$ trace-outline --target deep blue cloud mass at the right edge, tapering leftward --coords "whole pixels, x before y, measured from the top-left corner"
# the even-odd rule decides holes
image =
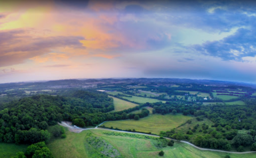
[[[207,41],[202,45],[193,45],[192,48],[205,55],[220,57],[225,61],[243,61],[243,57],[256,55],[255,28],[238,29],[234,35],[219,41]]]

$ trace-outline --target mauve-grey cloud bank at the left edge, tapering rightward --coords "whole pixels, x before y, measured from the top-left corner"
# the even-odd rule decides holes
[[[1,31],[0,36],[0,66],[19,64],[59,47],[85,49],[81,36],[33,37],[29,30]]]

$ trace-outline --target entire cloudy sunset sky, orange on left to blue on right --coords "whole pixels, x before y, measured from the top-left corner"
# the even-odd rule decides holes
[[[253,1],[0,1],[0,83],[189,78],[256,84]]]

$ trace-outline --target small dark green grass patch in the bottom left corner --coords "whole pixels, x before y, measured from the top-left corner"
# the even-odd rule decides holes
[[[10,158],[15,156],[17,152],[25,152],[28,145],[16,145],[9,143],[0,143],[0,157]]]

